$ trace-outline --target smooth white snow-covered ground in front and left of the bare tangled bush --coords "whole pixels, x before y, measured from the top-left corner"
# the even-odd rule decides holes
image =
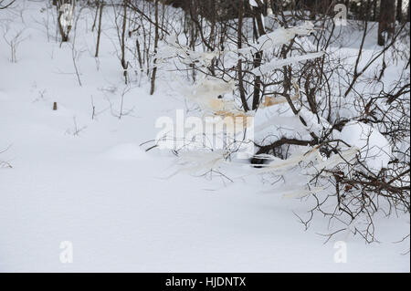
[[[23,29],[16,63],[0,38],[0,161],[12,166],[0,169],[0,271],[410,271],[409,240],[395,243],[409,216],[377,219],[380,243],[341,234],[323,244],[328,221],[317,216],[304,231],[293,212],[306,205],[267,193],[256,177],[167,179],[174,156],[139,145],[155,138],[157,118],[184,109],[172,73],[160,74],[153,96],[145,81],[125,89],[112,23],[98,61],[91,24],[82,23],[80,87],[71,47],[54,31],[47,40],[45,6],[21,1],[21,15],[0,12],[6,36]],[[65,241],[71,264],[59,260]],[[347,244],[347,263],[334,262],[337,241]]]

